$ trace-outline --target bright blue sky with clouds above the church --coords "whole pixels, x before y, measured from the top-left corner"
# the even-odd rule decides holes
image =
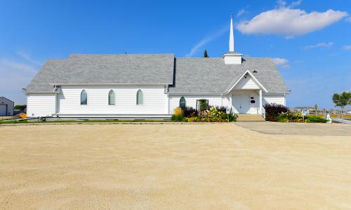
[[[25,103],[25,87],[48,58],[71,53],[228,50],[272,57],[288,106],[333,108],[351,90],[351,1],[1,1],[0,96]]]

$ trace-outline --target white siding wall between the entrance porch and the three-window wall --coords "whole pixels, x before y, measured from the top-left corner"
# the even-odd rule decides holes
[[[173,110],[176,109],[176,107],[179,106],[179,100],[181,97],[185,98],[185,103],[186,106],[192,106],[192,108],[196,109],[197,107],[197,99],[208,99],[208,104],[211,106],[225,106],[225,99],[220,96],[220,94],[217,95],[211,95],[211,94],[183,94],[183,95],[170,95],[169,96],[169,113],[173,113]]]

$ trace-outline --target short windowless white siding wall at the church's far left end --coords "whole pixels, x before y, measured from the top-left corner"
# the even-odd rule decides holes
[[[29,93],[27,94],[27,116],[51,116],[56,110],[56,94]]]

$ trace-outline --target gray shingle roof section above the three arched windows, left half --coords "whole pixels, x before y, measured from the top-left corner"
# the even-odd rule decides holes
[[[49,59],[27,92],[52,92],[53,84],[172,84],[173,54],[70,55]]]

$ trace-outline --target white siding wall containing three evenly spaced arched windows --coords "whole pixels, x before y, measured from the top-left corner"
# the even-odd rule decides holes
[[[62,85],[58,95],[59,114],[77,115],[143,115],[168,114],[168,97],[164,85]],[[143,91],[143,105],[136,105],[136,93]],[[88,104],[80,104],[86,90]],[[108,93],[114,90],[116,104],[108,105]]]

